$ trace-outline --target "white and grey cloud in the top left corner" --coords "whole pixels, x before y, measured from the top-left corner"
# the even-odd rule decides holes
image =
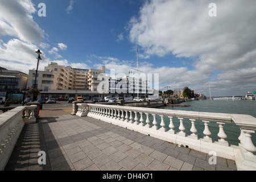
[[[15,36],[30,43],[44,39],[44,31],[32,18],[36,9],[30,0],[1,1],[0,4],[0,35]]]

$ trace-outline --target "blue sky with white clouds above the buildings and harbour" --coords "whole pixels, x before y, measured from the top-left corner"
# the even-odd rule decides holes
[[[44,3],[45,6],[42,6]],[[214,3],[216,6],[209,6]],[[42,16],[43,15],[43,16]],[[256,90],[254,0],[0,0],[0,67],[159,75],[159,89]]]

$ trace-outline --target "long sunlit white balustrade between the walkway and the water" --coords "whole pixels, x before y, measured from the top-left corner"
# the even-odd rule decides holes
[[[208,153],[214,151],[217,156],[235,160],[238,170],[256,170],[256,147],[251,134],[256,130],[256,118],[243,114],[204,113],[196,111],[179,111],[151,109],[145,107],[113,106],[101,104],[77,104],[76,115],[93,117],[130,130],[138,131],[151,137],[166,140],[197,151]],[[160,117],[160,123],[156,120]],[[166,122],[168,118],[168,122]],[[189,122],[189,132],[184,125]],[[174,120],[179,126],[174,125]],[[199,137],[197,122],[203,122],[203,138]],[[213,141],[209,123],[218,125],[219,139]],[[229,144],[224,131],[225,123],[235,123],[240,127],[240,143]]]

